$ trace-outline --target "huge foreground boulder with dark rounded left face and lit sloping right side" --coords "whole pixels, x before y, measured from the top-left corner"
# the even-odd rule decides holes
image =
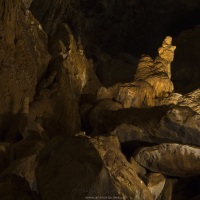
[[[42,198],[49,200],[87,196],[152,199],[120,152],[116,137],[56,137],[42,151],[36,177]]]

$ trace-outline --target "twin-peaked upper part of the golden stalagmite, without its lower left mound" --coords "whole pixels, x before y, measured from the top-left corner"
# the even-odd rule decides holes
[[[135,80],[148,82],[155,93],[155,97],[164,97],[174,90],[171,82],[171,62],[174,59],[175,46],[172,46],[172,38],[167,36],[162,47],[158,49],[159,56],[155,61],[151,57],[143,55],[138,63]]]

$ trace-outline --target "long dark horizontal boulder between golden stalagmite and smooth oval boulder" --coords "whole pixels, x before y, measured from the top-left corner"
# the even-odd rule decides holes
[[[109,120],[115,125],[112,126],[112,134],[117,134],[121,143],[172,142],[200,146],[200,115],[189,107],[121,110],[104,113],[102,118],[99,116],[102,124],[108,123]]]

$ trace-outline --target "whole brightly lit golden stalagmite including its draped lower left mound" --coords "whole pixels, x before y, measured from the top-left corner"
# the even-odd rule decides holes
[[[143,55],[138,63],[134,82],[117,84],[109,90],[113,98],[121,102],[124,108],[153,107],[155,98],[169,96],[174,86],[171,78],[171,62],[176,47],[172,46],[172,38],[167,36],[162,47],[158,49],[155,61]]]

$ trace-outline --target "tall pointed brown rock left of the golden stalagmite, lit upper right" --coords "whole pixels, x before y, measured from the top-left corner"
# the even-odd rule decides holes
[[[47,78],[39,86],[30,115],[50,137],[57,132],[73,135],[81,129],[78,100],[88,80],[89,63],[67,24],[60,24],[52,36],[50,53]]]

